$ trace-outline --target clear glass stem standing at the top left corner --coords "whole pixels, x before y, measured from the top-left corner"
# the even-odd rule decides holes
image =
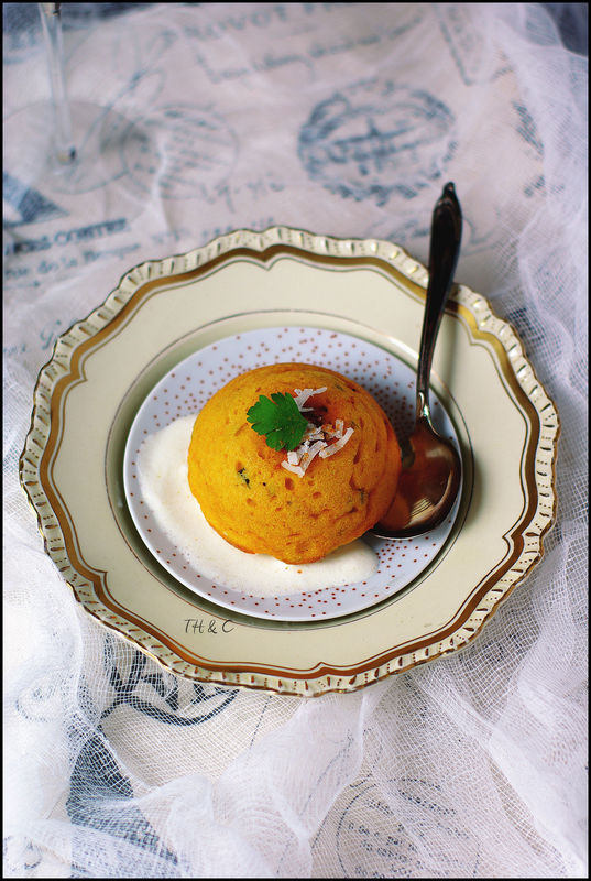
[[[62,3],[39,3],[39,9],[50,68],[55,156],[61,165],[68,165],[76,157],[76,148],[72,138],[72,120],[64,70]]]

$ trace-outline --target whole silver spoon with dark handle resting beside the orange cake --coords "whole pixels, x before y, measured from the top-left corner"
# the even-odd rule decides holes
[[[402,471],[394,501],[371,530],[381,539],[405,539],[429,532],[449,513],[460,486],[461,464],[455,447],[435,431],[429,410],[429,376],[441,316],[460,252],[462,215],[452,183],[446,184],[431,222],[429,282],[417,367],[416,420],[401,443]]]

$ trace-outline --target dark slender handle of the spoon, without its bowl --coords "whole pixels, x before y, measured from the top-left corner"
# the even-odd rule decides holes
[[[452,183],[446,184],[436,203],[431,221],[429,282],[420,335],[417,368],[417,417],[429,414],[429,377],[435,340],[451,290],[460,253],[462,213]]]

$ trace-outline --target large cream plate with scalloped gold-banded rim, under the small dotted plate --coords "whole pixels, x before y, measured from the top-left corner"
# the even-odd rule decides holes
[[[294,695],[354,690],[472,640],[541,556],[559,421],[514,330],[467,287],[452,292],[433,372],[462,453],[459,511],[394,596],[330,621],[222,609],[158,564],[123,488],[130,427],[175,365],[284,326],[349,335],[415,367],[426,279],[385,241],[238,230],[136,267],[64,334],[37,380],[20,471],[85,609],[180,675]]]

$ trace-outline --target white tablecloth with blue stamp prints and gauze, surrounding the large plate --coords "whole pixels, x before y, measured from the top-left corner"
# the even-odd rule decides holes
[[[107,176],[43,189],[39,11],[4,4],[6,877],[585,877],[587,58],[535,3],[64,10],[85,149],[101,107],[141,134]],[[78,607],[19,486],[56,336],[132,265],[232,228],[427,262],[448,180],[456,278],[559,411],[544,559],[473,644],[359,693],[162,673]]]

